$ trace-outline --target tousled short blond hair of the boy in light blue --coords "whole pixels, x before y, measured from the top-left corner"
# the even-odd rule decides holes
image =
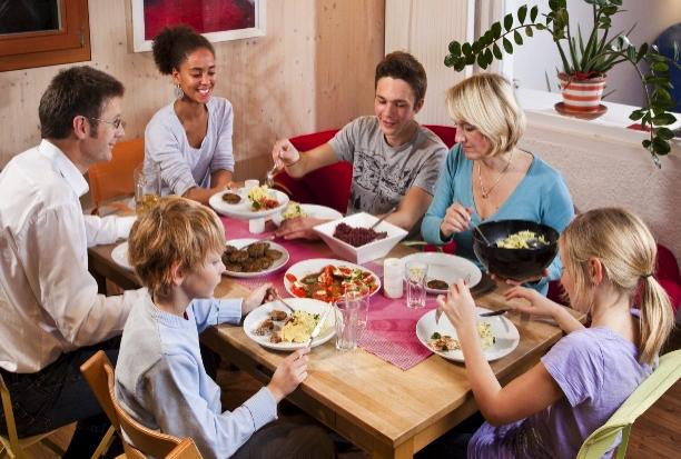
[[[209,208],[180,197],[162,198],[130,230],[128,260],[154,296],[170,292],[174,263],[193,270],[209,252],[225,250],[225,228]]]

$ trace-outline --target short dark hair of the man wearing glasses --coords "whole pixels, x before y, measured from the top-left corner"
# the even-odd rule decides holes
[[[89,66],[61,70],[40,98],[38,116],[43,139],[66,139],[73,130],[73,118],[87,117],[93,131],[109,99],[122,97],[120,81]]]

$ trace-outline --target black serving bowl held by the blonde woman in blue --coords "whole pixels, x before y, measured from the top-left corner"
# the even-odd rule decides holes
[[[524,280],[536,278],[551,265],[557,253],[559,232],[546,224],[527,220],[497,220],[481,223],[477,227],[487,238],[490,246],[473,230],[473,251],[487,271],[504,279]],[[504,249],[496,247],[496,241],[523,231],[534,231],[543,236],[546,245],[532,249]]]

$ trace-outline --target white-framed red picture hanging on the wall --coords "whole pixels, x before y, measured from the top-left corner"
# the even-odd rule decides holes
[[[265,0],[130,0],[132,50],[150,51],[166,26],[184,23],[211,42],[265,34]]]

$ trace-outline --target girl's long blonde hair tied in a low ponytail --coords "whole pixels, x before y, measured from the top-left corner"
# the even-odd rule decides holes
[[[651,363],[669,337],[674,319],[671,301],[652,276],[658,248],[645,223],[620,208],[595,209],[579,214],[561,236],[563,265],[573,280],[573,306],[591,310],[595,286],[589,260],[596,258],[605,271],[604,282],[633,302],[641,291],[639,360]]]

